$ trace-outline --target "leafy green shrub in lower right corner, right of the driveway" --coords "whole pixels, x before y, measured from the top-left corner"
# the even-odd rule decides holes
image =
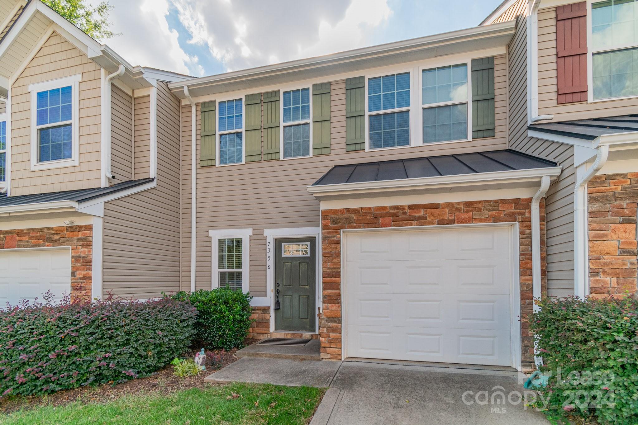
[[[530,329],[551,374],[551,415],[638,424],[638,300],[544,298]]]

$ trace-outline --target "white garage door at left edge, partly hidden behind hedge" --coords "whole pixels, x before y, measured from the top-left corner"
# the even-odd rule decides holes
[[[0,250],[0,306],[20,299],[43,301],[51,291],[55,299],[71,292],[71,250],[21,249]]]

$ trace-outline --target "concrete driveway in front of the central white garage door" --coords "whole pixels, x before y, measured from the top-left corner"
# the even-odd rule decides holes
[[[525,391],[517,373],[345,361],[311,425],[549,424]]]

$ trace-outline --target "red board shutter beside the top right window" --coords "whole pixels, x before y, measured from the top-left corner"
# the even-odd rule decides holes
[[[587,3],[556,8],[558,103],[587,100]]]

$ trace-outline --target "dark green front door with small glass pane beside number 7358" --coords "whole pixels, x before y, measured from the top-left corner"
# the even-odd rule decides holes
[[[275,331],[315,331],[315,249],[315,238],[276,240]]]

